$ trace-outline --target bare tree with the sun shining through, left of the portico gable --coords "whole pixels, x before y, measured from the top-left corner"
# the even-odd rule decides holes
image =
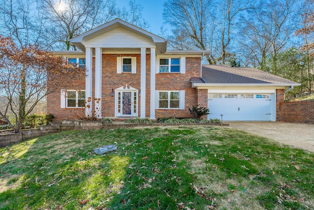
[[[112,0],[65,0],[57,4],[55,0],[42,0],[42,8],[51,23],[46,28],[51,46],[66,50],[77,50],[71,38],[108,22],[116,14]]]

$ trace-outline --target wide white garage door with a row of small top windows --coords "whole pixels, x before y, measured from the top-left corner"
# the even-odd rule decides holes
[[[209,93],[210,119],[271,121],[274,115],[272,93]]]

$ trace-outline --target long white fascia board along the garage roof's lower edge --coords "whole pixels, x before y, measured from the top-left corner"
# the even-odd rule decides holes
[[[275,87],[277,89],[279,88],[287,88],[290,86],[300,86],[301,84],[299,83],[279,83],[279,84],[274,84],[274,83],[265,83],[265,84],[247,84],[247,83],[216,83],[216,84],[208,84],[208,83],[194,83],[192,84],[193,88],[199,88],[199,89],[206,89],[208,88],[212,88],[212,87],[224,87],[224,88],[228,88],[228,87]]]

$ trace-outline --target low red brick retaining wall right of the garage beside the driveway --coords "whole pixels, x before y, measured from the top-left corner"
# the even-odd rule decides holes
[[[279,103],[279,121],[314,124],[314,101]]]

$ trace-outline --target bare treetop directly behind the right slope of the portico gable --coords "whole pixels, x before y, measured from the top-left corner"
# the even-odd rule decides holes
[[[129,10],[122,7],[117,11],[117,17],[143,30],[149,29],[148,22],[142,17],[143,6],[136,0],[129,1]]]

